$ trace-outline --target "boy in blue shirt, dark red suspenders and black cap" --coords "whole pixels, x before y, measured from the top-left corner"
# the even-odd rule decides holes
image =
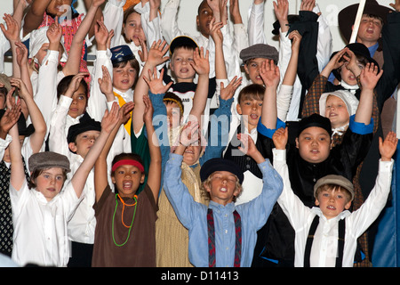
[[[204,191],[210,193],[209,206],[197,203],[181,179],[182,150],[197,140],[198,126],[188,126],[180,137],[180,147],[171,153],[165,167],[164,191],[176,215],[188,228],[189,260],[196,267],[248,267],[256,232],[282,191],[282,179],[244,134],[241,151],[257,161],[263,174],[263,191],[259,197],[236,206],[244,175],[235,162],[228,159],[209,159],[200,170]]]

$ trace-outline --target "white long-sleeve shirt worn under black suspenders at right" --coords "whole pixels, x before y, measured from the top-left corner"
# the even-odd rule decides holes
[[[284,191],[277,201],[295,231],[294,265],[296,267],[304,266],[304,254],[309,228],[314,217],[319,216],[319,224],[316,228],[310,253],[310,266],[335,266],[338,250],[338,222],[341,219],[346,219],[342,266],[353,267],[356,240],[380,215],[380,211],[385,207],[388,200],[394,160],[380,160],[375,186],[361,208],[352,213],[344,210],[339,216],[326,219],[320,208],[306,207],[299,197],[293,193],[286,165],[286,151],[274,149],[273,155],[274,167],[284,180]]]

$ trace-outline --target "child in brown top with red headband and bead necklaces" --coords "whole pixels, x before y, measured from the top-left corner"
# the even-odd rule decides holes
[[[156,266],[156,211],[161,181],[161,154],[152,125],[153,106],[147,96],[143,100],[147,106],[143,120],[148,132],[150,153],[148,183],[137,194],[146,175],[143,163],[135,153],[121,153],[113,159],[111,178],[115,192],[110,189],[106,158],[115,134],[124,121],[124,118],[120,118],[94,167],[96,203],[93,208],[97,224],[93,267]]]

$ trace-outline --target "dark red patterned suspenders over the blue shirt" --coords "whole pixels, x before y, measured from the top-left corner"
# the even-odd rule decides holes
[[[234,266],[240,267],[242,258],[242,222],[239,213],[235,210],[233,213],[235,219],[235,260]],[[207,210],[207,231],[208,231],[208,265],[215,267],[215,227],[212,209]]]

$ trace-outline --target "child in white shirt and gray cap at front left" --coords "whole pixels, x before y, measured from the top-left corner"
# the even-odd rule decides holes
[[[107,112],[101,133],[84,162],[64,185],[70,170],[67,157],[51,151],[38,152],[29,158],[30,181],[24,171],[18,141],[18,129],[10,130],[12,173],[10,195],[14,221],[12,259],[19,265],[66,266],[69,257],[68,218],[83,199],[84,183],[108,134],[116,125],[118,107]],[[50,222],[50,223],[49,223]]]

